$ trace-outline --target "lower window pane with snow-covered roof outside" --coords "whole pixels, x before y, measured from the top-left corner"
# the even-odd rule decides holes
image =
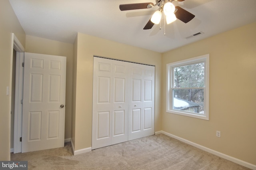
[[[204,114],[204,89],[174,89],[174,110]]]

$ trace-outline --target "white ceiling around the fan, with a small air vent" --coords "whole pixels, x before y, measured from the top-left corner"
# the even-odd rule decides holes
[[[176,20],[159,30],[144,26],[158,6],[120,11],[119,4],[155,0],[9,0],[27,35],[74,43],[77,32],[157,52],[196,42],[256,22],[256,0],[174,1],[195,15],[188,23]],[[199,36],[186,37],[204,32]]]

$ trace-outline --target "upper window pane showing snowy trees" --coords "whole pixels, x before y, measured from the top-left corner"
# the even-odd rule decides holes
[[[204,63],[174,67],[174,88],[204,87]]]

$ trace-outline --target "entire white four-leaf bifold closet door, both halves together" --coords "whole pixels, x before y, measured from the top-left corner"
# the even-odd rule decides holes
[[[154,134],[154,70],[94,57],[92,149]]]

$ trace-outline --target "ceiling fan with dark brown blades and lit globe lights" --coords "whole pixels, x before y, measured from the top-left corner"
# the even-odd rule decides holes
[[[136,3],[136,4],[120,4],[119,8],[121,11],[126,10],[138,10],[138,9],[146,9],[146,8],[152,8],[154,6],[158,6],[158,10],[154,12],[146,26],[143,28],[143,30],[151,29],[154,24],[159,24],[162,12],[164,12],[164,17],[167,24],[170,24],[171,22],[174,22],[176,18],[181,20],[184,23],[189,22],[192,20],[195,16],[191,14],[190,12],[184,10],[183,8],[179,6],[174,6],[172,4],[173,0],[156,0],[156,4],[153,4],[152,2],[145,2],[145,3]],[[182,2],[184,0],[175,0]]]

